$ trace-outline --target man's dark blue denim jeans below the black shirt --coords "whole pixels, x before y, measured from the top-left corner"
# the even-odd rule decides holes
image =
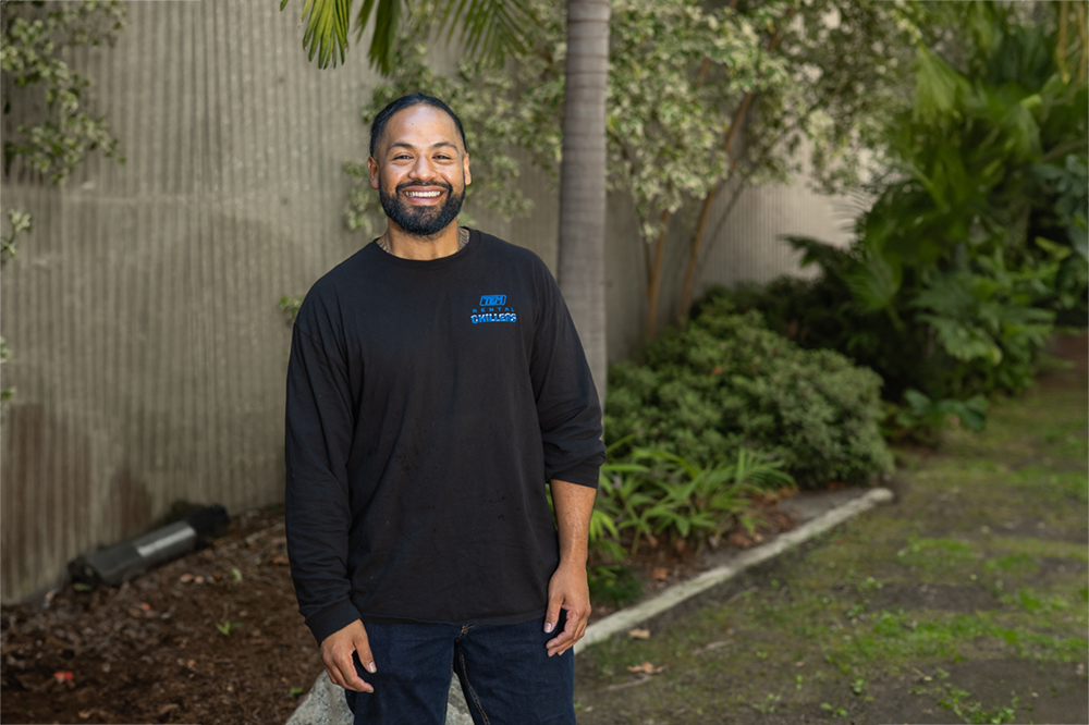
[[[344,690],[355,725],[441,725],[457,673],[476,725],[574,725],[575,653],[549,658],[544,619],[516,625],[367,624],[374,692]]]

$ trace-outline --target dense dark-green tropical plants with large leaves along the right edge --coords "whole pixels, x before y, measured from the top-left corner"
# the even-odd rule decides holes
[[[964,421],[978,396],[1032,383],[1056,320],[1086,323],[1089,95],[1064,73],[1084,42],[1060,47],[1053,4],[957,4],[942,12],[960,44],[917,47],[915,102],[854,244],[791,238],[816,280],[730,296],[873,368],[916,417],[960,403]]]

